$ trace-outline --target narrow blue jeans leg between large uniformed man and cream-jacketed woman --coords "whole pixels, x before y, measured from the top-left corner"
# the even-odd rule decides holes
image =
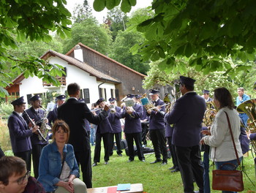
[[[209,178],[209,153],[203,152],[203,192],[210,193],[210,178]]]

